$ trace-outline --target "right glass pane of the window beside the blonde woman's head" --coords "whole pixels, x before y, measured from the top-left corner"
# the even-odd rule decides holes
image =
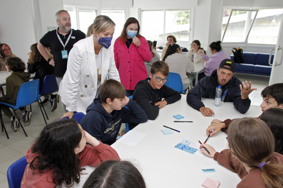
[[[93,20],[97,16],[96,10],[78,9],[78,13],[79,13],[79,29],[86,34],[87,28],[91,24],[93,24]]]

